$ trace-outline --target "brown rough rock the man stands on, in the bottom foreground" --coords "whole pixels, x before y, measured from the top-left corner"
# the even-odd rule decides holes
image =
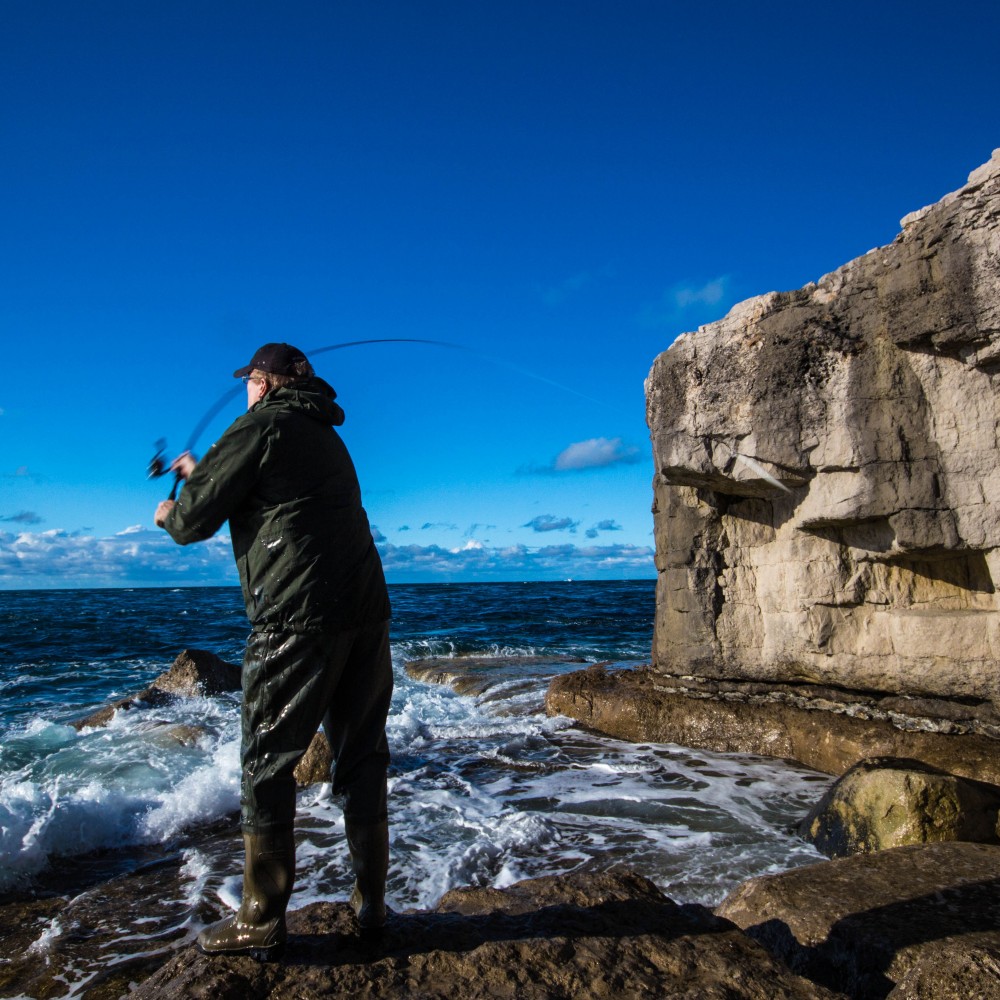
[[[396,914],[362,948],[343,903],[292,913],[281,964],[173,958],[131,994],[269,997],[831,998],[731,923],[678,906],[629,872],[575,874],[508,889],[460,889],[431,912]]]

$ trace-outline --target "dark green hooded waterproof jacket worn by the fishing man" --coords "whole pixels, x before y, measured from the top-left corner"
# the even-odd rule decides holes
[[[195,466],[164,527],[181,545],[228,520],[254,631],[330,632],[389,617],[354,463],[321,379],[272,389]]]

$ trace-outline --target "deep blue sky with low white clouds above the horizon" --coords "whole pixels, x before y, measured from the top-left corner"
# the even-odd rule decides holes
[[[321,355],[390,581],[654,575],[643,379],[1000,145],[1000,5],[5,0],[0,588],[227,583],[152,526]],[[204,449],[242,396],[202,435]]]

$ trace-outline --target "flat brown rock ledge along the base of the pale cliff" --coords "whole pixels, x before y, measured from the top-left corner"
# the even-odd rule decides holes
[[[943,699],[598,665],[556,677],[545,707],[636,743],[782,757],[837,775],[867,757],[905,757],[1000,784],[1000,728],[982,722],[979,706]]]

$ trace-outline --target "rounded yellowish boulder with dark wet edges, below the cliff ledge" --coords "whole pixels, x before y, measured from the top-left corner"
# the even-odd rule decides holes
[[[914,760],[863,760],[838,778],[799,833],[830,857],[942,840],[1000,843],[1000,788]]]

